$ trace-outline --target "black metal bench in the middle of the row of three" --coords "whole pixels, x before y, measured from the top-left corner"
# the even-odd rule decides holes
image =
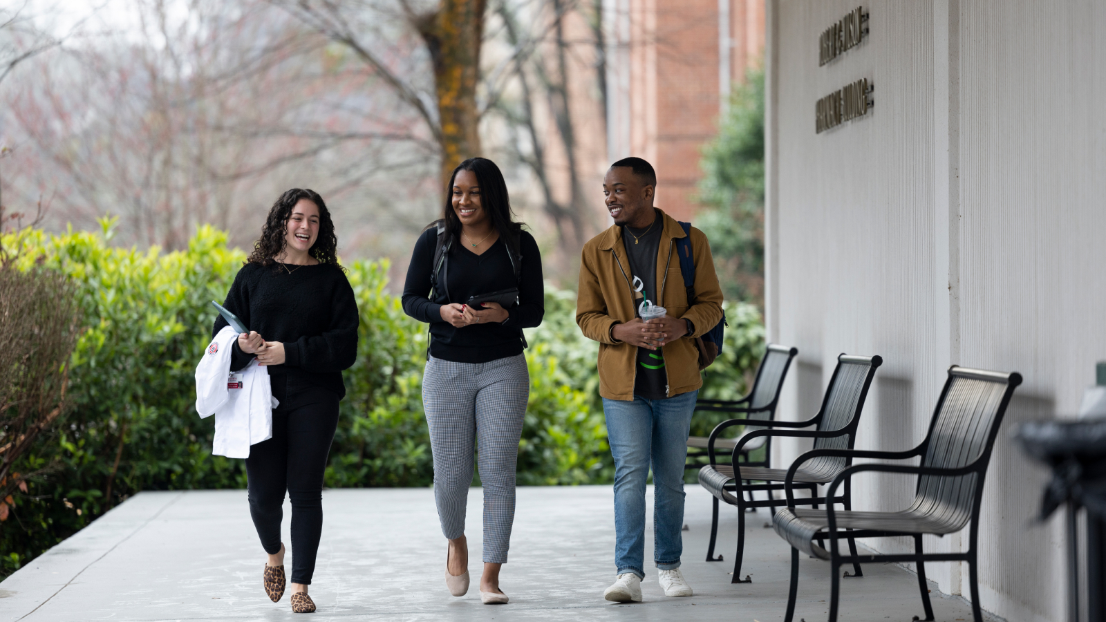
[[[773,490],[783,490],[785,469],[768,468],[766,466],[755,467],[744,464],[737,464],[739,453],[747,444],[754,442],[769,442],[771,437],[791,436],[800,438],[813,438],[815,448],[852,448],[856,442],[856,426],[860,422],[860,413],[864,411],[864,400],[872,385],[872,377],[876,370],[883,364],[879,356],[849,356],[841,354],[837,356],[837,366],[834,369],[833,377],[830,379],[830,386],[826,388],[825,397],[822,400],[822,408],[814,417],[803,422],[761,422],[759,425],[773,427],[810,427],[814,431],[802,429],[758,429],[742,436],[733,447],[733,462],[731,465],[719,465],[714,459],[714,442],[718,435],[732,425],[748,424],[748,419],[729,419],[718,424],[710,433],[708,453],[710,464],[699,469],[699,485],[714,496],[711,499],[712,512],[710,525],[710,543],[707,548],[707,560],[711,561],[714,554],[714,541],[718,536],[718,501],[738,507],[738,550],[733,561],[733,583],[748,583],[750,578],[741,579],[741,559],[744,554],[745,546],[745,508],[770,508],[773,512],[776,506],[784,506],[789,502],[799,502],[817,507],[818,504],[826,502],[826,498],[817,496],[817,485],[827,484],[834,479],[851,463],[847,458],[825,457],[811,465],[802,473],[794,474],[799,487],[811,491],[810,498],[792,500],[776,499]],[[763,439],[763,440],[762,440]],[[734,473],[732,465],[737,464],[738,473]],[[750,481],[762,481],[762,484],[751,484]],[[765,490],[768,499],[758,501],[752,499],[752,491]],[[744,498],[748,491],[750,499]],[[833,497],[834,502],[845,504],[851,507],[852,490],[845,488],[842,496]],[[851,543],[851,550],[855,550],[855,545]],[[855,566],[856,576],[860,576],[859,564]]]

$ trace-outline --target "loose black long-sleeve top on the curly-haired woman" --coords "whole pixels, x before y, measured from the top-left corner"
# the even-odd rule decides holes
[[[269,365],[271,376],[298,376],[345,397],[342,370],[357,359],[359,320],[353,288],[341,268],[247,263],[222,305],[265,341],[284,344],[284,363]],[[226,325],[218,315],[212,336]],[[241,370],[252,360],[236,339],[230,369]]]

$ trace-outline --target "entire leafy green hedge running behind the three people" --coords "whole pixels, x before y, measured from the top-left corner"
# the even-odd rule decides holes
[[[50,468],[0,522],[0,577],[10,573],[138,490],[242,488],[241,460],[211,455],[212,418],[196,414],[194,371],[222,300],[244,259],[227,236],[202,227],[188,249],[111,245],[102,231],[51,236],[25,229],[0,238],[23,267],[44,266],[74,284],[83,332],[73,354],[73,408],[19,470]],[[328,487],[427,486],[432,480],[422,416],[426,325],[389,294],[388,262],[347,266],[361,313],[357,363],[326,468]],[[519,443],[519,483],[611,481],[613,467],[596,395],[596,344],[574,321],[575,294],[550,288],[543,324],[528,330],[530,405]],[[705,394],[745,390],[763,348],[755,308],[727,304],[722,360]],[[696,433],[720,417],[699,417]]]

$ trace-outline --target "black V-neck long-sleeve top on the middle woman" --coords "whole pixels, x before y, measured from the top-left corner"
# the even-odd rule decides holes
[[[437,236],[435,228],[419,236],[404,283],[404,312],[430,324],[430,355],[458,363],[487,363],[521,354],[519,329],[541,324],[545,314],[542,256],[534,237],[526,231],[520,234],[522,269],[518,279],[502,237],[483,255],[477,255],[466,245],[455,241],[446,267],[438,274],[439,283],[448,279],[445,281],[447,287],[439,287],[435,300],[430,300],[430,267]],[[514,287],[519,288],[519,304],[508,309],[510,317],[502,323],[471,324],[458,329],[441,319],[444,304],[465,304],[470,297]]]

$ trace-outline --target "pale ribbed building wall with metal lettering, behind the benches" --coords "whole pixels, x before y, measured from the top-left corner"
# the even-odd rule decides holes
[[[950,364],[1021,372],[984,493],[981,604],[1060,622],[1063,530],[1031,525],[1046,474],[1009,433],[1071,416],[1106,360],[1106,3],[864,4],[870,34],[820,68],[818,34],[856,6],[769,7],[766,315],[800,350],[782,416],[816,412],[838,353],[880,354],[857,447],[904,449]],[[875,108],[815,134],[815,101],[862,77]],[[782,466],[802,447],[780,449]],[[859,479],[858,507],[900,508],[911,484]],[[927,567],[969,598],[967,571]]]

